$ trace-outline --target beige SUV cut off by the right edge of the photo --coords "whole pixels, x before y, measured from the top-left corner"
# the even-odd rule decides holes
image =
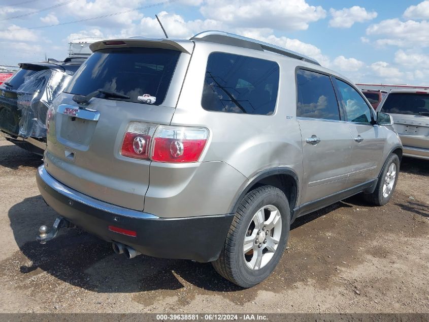
[[[404,144],[404,156],[429,160],[429,93],[391,90],[377,111],[393,116],[394,129]]]

